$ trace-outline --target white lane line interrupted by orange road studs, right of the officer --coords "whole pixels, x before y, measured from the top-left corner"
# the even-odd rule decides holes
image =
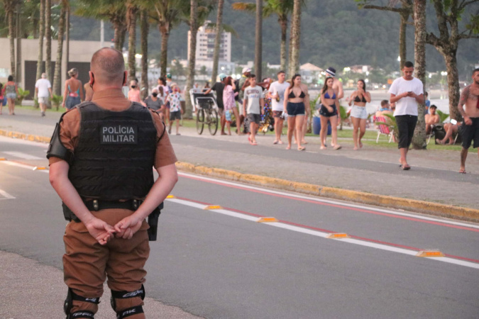
[[[178,198],[173,198],[173,199],[168,198],[168,199],[165,199],[165,201],[171,201],[172,203],[179,203],[181,205],[185,205],[185,206],[189,206],[189,207],[193,207],[193,208],[199,208],[199,209],[202,209],[202,210],[205,206],[204,204],[194,203],[194,202],[191,202],[191,201],[187,201],[187,200],[184,200],[184,199],[178,199]],[[253,222],[256,222],[256,220],[258,220],[258,217],[248,216],[248,215],[245,215],[245,214],[242,214],[242,213],[236,213],[234,211],[228,211],[226,209],[211,209],[211,210],[208,210],[208,212],[220,213],[222,215],[241,218],[241,219],[244,219],[244,220],[250,220],[250,221],[253,221]],[[292,231],[297,232],[297,233],[313,235],[313,236],[316,236],[316,237],[326,238],[326,236],[328,235],[327,233],[323,233],[323,232],[320,232],[318,230],[310,230],[310,229],[307,229],[307,228],[301,228],[301,227],[298,227],[298,226],[288,225],[288,224],[285,224],[285,223],[261,223],[261,224],[262,225],[270,225],[270,226],[274,226],[274,227],[282,228],[282,229],[286,229],[286,230],[292,230]],[[397,253],[400,253],[400,254],[408,254],[409,256],[414,256],[414,257],[417,254],[416,250],[407,250],[407,249],[400,248],[400,247],[383,245],[383,244],[379,244],[377,242],[367,242],[367,241],[364,241],[364,240],[357,240],[357,239],[354,239],[354,238],[331,239],[331,240],[337,240],[339,242],[347,242],[348,244],[360,245],[360,246],[364,246],[364,247],[375,248],[375,249],[378,249],[378,250],[385,250],[385,251],[388,251],[388,252],[397,252]],[[474,262],[467,262],[465,260],[460,260],[460,259],[453,259],[453,258],[449,258],[449,257],[417,257],[417,258],[426,258],[426,259],[431,259],[431,260],[437,260],[438,262],[447,262],[448,264],[457,264],[457,265],[464,266],[464,267],[479,269],[479,264],[475,264]]]

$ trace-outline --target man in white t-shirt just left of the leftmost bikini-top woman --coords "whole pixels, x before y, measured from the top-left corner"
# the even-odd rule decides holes
[[[285,121],[285,116],[283,114],[283,104],[285,102],[285,91],[290,84],[285,82],[286,74],[285,71],[277,72],[277,81],[272,82],[268,93],[271,96],[272,104],[272,117],[275,118],[275,141],[273,144],[282,144],[281,133],[282,133],[282,123]]]

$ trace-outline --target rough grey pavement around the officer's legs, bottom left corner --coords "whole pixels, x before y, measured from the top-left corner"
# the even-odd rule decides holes
[[[45,266],[19,254],[2,251],[0,263],[0,318],[65,318],[63,301],[67,295],[67,286],[63,284],[62,270]],[[110,296],[110,290],[105,285],[95,318],[114,318]],[[147,318],[200,318],[186,313],[181,308],[167,306],[148,297],[145,298],[144,310]]]

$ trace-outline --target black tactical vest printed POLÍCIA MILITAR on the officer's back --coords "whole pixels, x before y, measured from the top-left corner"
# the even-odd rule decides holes
[[[78,106],[79,142],[68,177],[78,194],[104,201],[144,198],[153,186],[157,130],[148,108],[114,112]]]

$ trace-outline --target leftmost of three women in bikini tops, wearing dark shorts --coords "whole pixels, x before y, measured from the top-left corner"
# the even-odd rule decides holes
[[[296,130],[294,139],[298,145],[298,150],[306,150],[301,145],[302,128],[304,122],[304,106],[309,106],[308,87],[301,84],[301,75],[294,74],[291,80],[292,86],[285,91],[285,113],[287,113],[287,147],[291,149],[293,130]]]

